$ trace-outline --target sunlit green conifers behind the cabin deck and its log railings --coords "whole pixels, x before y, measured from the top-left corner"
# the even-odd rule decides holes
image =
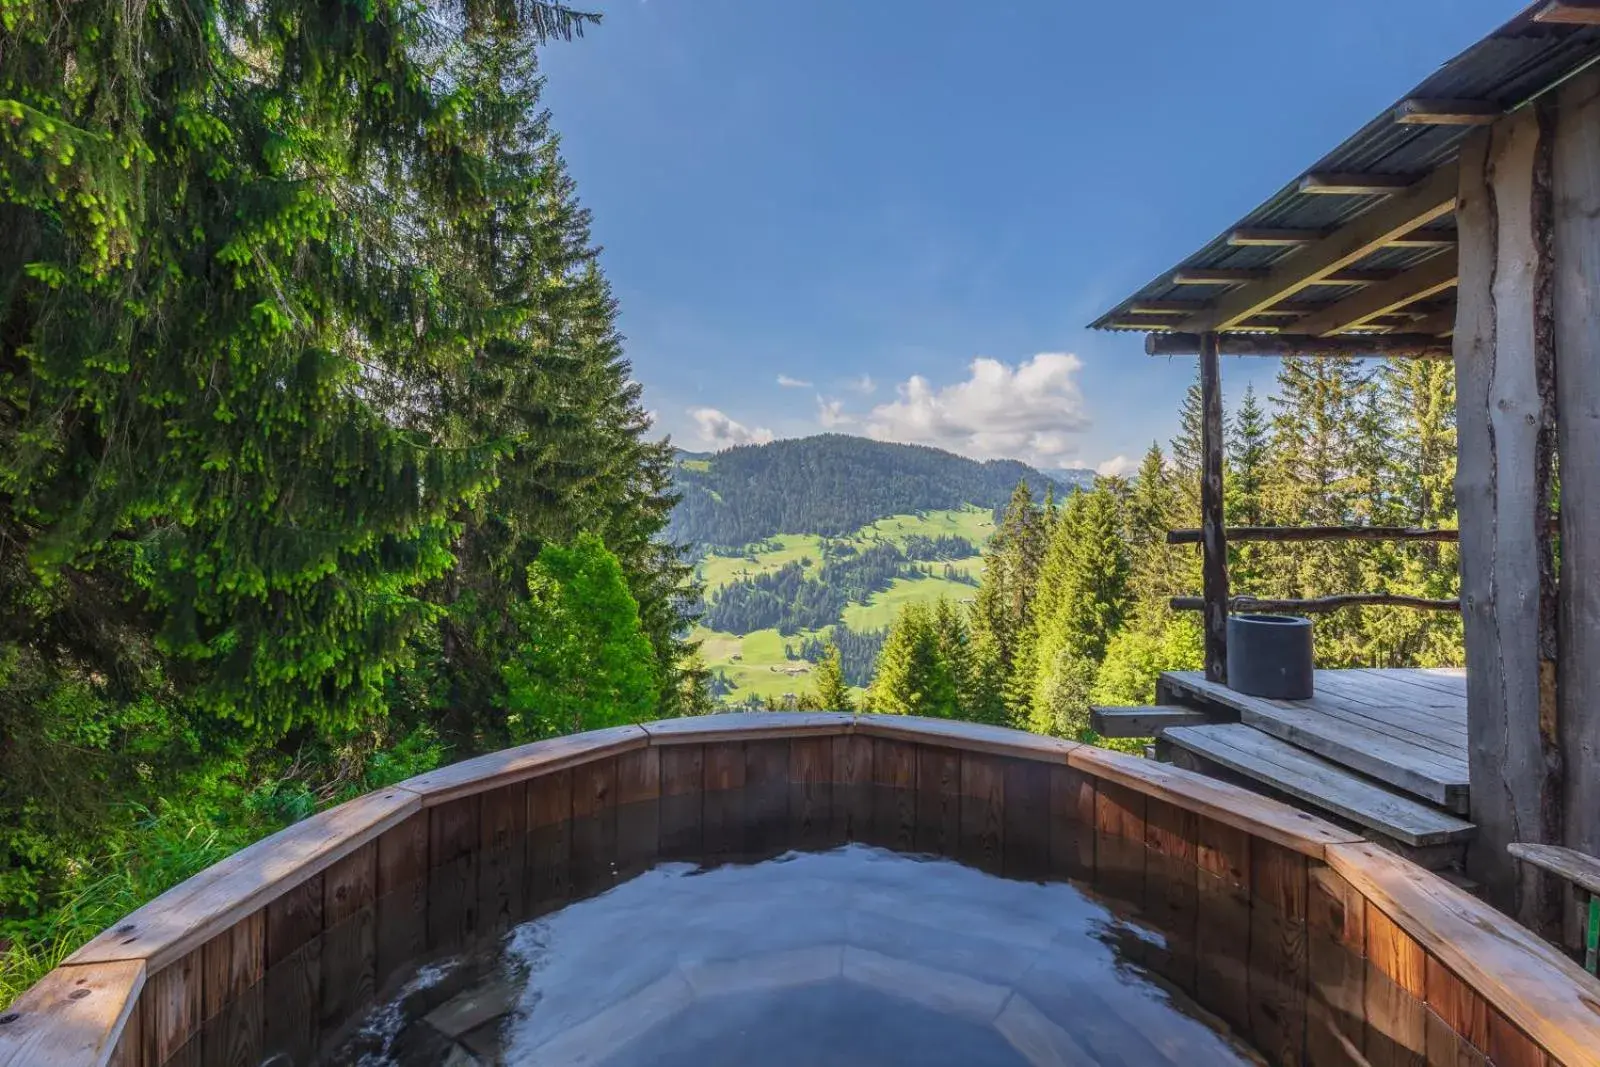
[[[971,605],[906,605],[877,656],[864,705],[1091,737],[1088,707],[1149,704],[1160,670],[1202,661],[1195,545],[1166,531],[1200,522],[1200,392],[1181,429],[1152,443],[1131,478],[1099,478],[1064,501],[1018,483],[986,550]],[[1454,382],[1446,363],[1283,360],[1264,405],[1246,390],[1227,424],[1230,525],[1453,526]],[[1453,598],[1456,545],[1234,544],[1235,593],[1302,598],[1392,592]],[[1317,617],[1317,662],[1462,662],[1456,613],[1344,608]],[[827,705],[816,693],[800,705]]]

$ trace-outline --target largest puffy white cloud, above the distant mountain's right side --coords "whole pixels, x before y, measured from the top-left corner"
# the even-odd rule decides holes
[[[1082,366],[1067,352],[1040,352],[1018,366],[976,358],[966,381],[952,386],[934,387],[915,374],[898,387],[898,400],[872,410],[867,435],[1061,467],[1090,424],[1077,382]]]

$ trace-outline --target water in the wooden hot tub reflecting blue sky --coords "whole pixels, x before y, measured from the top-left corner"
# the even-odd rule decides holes
[[[1066,881],[867,845],[662,862],[418,969],[323,1062],[1248,1064]]]

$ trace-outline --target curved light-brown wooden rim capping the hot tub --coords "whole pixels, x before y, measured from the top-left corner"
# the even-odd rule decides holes
[[[464,760],[322,811],[173,886],[67,957],[0,1013],[0,1067],[123,1062],[147,977],[419,811],[646,747],[840,736],[1070,766],[1299,853],[1314,870],[1344,878],[1531,1038],[1547,1062],[1600,1067],[1600,982],[1509,917],[1357,833],[1226,782],[1086,744],[843,712],[722,713],[597,729]]]

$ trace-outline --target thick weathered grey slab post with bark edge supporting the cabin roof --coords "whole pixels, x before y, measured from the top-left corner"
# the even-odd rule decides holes
[[[1547,114],[1525,107],[1474,133],[1459,173],[1456,501],[1478,827],[1467,872],[1493,904],[1549,931],[1544,878],[1506,854],[1560,835]]]

